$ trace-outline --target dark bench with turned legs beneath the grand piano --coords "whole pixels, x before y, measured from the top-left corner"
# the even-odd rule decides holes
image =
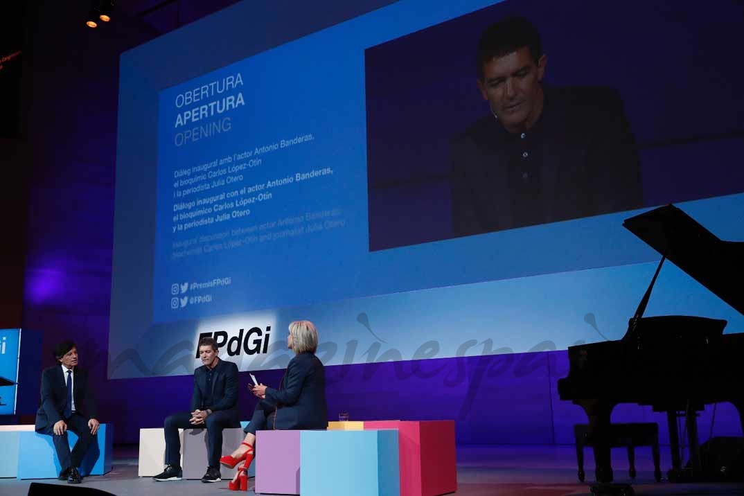
[[[584,482],[584,447],[593,446],[589,434],[589,425],[574,425],[574,437],[576,439],[576,458],[579,464],[579,480]],[[655,422],[644,422],[635,424],[612,424],[609,428],[610,448],[627,448],[628,463],[630,465],[629,475],[635,479],[635,447],[650,446],[653,454],[654,478],[656,482],[661,481],[661,468],[659,468],[658,456],[658,424]]]

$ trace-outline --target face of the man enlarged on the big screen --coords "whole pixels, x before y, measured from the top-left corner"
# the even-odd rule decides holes
[[[490,59],[483,65],[478,88],[508,132],[530,129],[542,112],[542,76],[545,55],[535,63],[527,47]]]

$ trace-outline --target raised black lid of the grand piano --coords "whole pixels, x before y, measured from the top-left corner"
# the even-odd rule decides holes
[[[744,242],[721,241],[671,204],[623,226],[744,315]]]

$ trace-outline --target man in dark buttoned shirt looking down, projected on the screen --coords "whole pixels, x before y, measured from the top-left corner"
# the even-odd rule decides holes
[[[617,91],[543,84],[547,56],[527,19],[502,19],[478,44],[490,112],[452,141],[455,236],[642,206],[641,168]]]

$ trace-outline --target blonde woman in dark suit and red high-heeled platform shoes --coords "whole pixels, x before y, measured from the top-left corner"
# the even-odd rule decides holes
[[[286,346],[295,352],[278,389],[258,384],[251,393],[260,398],[253,410],[251,423],[243,429],[246,438],[231,454],[219,463],[233,468],[243,465],[228,483],[231,491],[248,490],[248,467],[254,458],[256,431],[268,429],[324,429],[328,426],[328,409],[325,396],[325,371],[315,356],[318,348],[318,331],[310,321],[289,324]]]

